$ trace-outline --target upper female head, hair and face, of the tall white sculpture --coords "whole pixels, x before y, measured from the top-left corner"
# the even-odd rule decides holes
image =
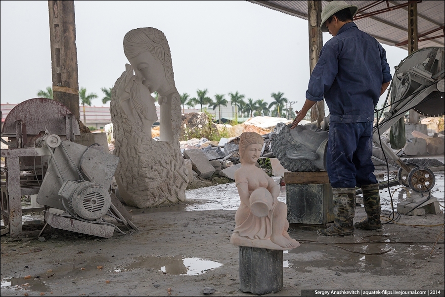
[[[175,86],[170,47],[164,33],[137,28],[124,37],[124,53],[150,93],[164,93]]]

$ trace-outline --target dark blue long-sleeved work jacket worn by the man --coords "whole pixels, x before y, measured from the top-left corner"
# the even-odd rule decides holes
[[[370,122],[382,84],[389,81],[385,49],[350,22],[321,49],[306,99],[321,101],[324,96],[331,122]]]

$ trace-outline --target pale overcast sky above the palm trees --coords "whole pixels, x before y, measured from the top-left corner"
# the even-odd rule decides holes
[[[122,41],[135,28],[161,30],[179,94],[238,91],[271,102],[282,92],[300,110],[309,81],[308,22],[248,1],[74,1],[79,87],[112,87],[128,63]],[[52,86],[48,1],[1,1],[1,103]],[[331,36],[323,33],[323,41]],[[407,51],[382,45],[391,73]],[[386,98],[384,94],[380,103]],[[327,107],[326,107],[327,108]],[[328,112],[326,112],[327,114]]]

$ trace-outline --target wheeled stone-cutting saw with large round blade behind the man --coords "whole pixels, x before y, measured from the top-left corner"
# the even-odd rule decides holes
[[[400,166],[398,177],[401,183],[415,192],[430,191],[436,182],[434,173],[427,167],[405,164],[388,145],[381,144],[380,133],[390,129],[410,109],[425,116],[444,115],[444,51],[440,47],[424,48],[400,62],[383,107],[390,110],[378,117],[378,125],[373,130],[374,142]]]

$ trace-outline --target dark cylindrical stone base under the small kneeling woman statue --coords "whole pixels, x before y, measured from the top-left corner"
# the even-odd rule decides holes
[[[239,287],[256,295],[276,293],[283,288],[283,251],[239,247]]]

